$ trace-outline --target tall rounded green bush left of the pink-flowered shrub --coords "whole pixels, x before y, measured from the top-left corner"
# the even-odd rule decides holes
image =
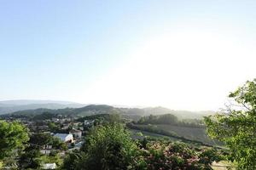
[[[80,169],[127,169],[137,154],[137,145],[123,125],[97,126],[90,130],[81,148],[85,156]]]

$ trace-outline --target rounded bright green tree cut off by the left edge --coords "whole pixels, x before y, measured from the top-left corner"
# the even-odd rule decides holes
[[[24,149],[29,139],[27,132],[19,122],[0,121],[0,160],[13,154],[14,150]]]

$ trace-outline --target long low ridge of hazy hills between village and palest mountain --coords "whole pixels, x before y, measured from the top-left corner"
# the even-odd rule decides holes
[[[55,109],[56,105],[45,105],[48,107],[40,107],[36,110],[25,110],[25,106],[22,108],[22,111],[15,111],[13,115],[38,115],[44,112],[49,112],[52,114],[61,114],[61,115],[74,115],[74,116],[89,116],[89,115],[98,115],[98,114],[110,114],[110,113],[119,113],[125,115],[126,117],[140,117],[148,115],[164,115],[172,114],[177,116],[179,119],[201,119],[203,116],[214,114],[213,111],[205,112],[193,112],[193,111],[173,111],[164,107],[148,107],[143,109],[138,108],[116,108],[110,105],[86,105],[80,108],[67,108],[67,105],[58,105],[61,109]],[[32,105],[30,105],[32,107]],[[34,107],[38,107],[35,105]],[[52,108],[50,108],[52,107]]]

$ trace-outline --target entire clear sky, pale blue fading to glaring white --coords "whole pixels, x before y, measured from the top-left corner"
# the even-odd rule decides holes
[[[256,78],[256,1],[0,1],[0,100],[217,111]]]

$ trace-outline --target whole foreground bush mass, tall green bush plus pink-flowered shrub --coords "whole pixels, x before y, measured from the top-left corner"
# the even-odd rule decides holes
[[[212,169],[217,150],[166,141],[134,141],[120,124],[90,130],[83,147],[69,154],[64,169]]]

